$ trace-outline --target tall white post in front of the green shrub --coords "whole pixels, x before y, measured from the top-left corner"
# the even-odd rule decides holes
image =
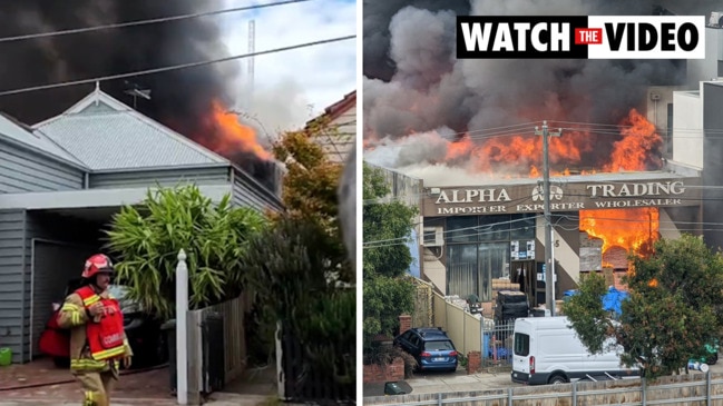
[[[179,405],[188,404],[188,266],[186,252],[178,251],[176,266],[176,395]]]

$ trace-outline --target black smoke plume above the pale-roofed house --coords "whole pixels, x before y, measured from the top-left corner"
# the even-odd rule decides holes
[[[8,0],[0,8],[0,37],[67,30],[117,22],[156,19],[218,10],[222,0]],[[130,71],[222,58],[228,52],[216,22],[218,17],[194,18],[146,26],[107,29],[39,39],[0,42],[0,90],[41,86]],[[104,81],[101,89],[133,106],[125,95],[129,83],[150,89],[152,99],[138,99],[137,109],[195,138],[217,137],[203,128],[202,117],[213,99],[235,102],[240,75],[234,62],[183,69],[129,79]],[[95,85],[0,97],[0,111],[26,123],[62,112],[92,91]],[[245,169],[264,179],[266,165],[250,162]]]

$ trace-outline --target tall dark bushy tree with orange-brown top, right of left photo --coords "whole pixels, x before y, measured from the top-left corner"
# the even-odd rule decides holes
[[[282,200],[272,227],[254,236],[244,264],[254,295],[254,338],[272,354],[277,323],[282,337],[297,339],[304,354],[301,378],[328,377],[353,387],[355,378],[356,295],[339,288],[353,281],[338,218],[343,165],[315,142],[338,131],[325,120],[290,131],[274,145],[285,164]]]

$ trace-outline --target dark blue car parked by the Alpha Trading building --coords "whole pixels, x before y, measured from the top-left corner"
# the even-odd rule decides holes
[[[457,349],[441,328],[410,328],[394,338],[394,346],[414,357],[418,370],[457,370]]]

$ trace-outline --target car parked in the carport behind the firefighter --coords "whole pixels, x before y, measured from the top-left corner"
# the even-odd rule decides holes
[[[80,287],[80,279],[71,279],[66,286],[63,298]],[[110,294],[118,299],[124,315],[124,326],[128,343],[134,351],[135,366],[149,366],[163,364],[168,360],[168,348],[160,330],[162,323],[148,316],[140,306],[128,299],[127,288],[119,285],[111,285]],[[69,365],[69,331],[58,326],[58,313],[61,301],[52,304],[52,315],[40,336],[40,351],[51,356],[58,367]]]

